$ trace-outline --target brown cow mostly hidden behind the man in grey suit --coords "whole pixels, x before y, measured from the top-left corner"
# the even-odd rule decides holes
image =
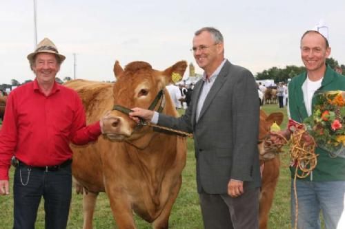
[[[259,203],[259,228],[266,229],[268,215],[273,203],[275,187],[279,177],[279,155],[275,149],[267,147],[266,141],[269,140],[270,126],[273,122],[281,124],[284,115],[282,112],[271,113],[267,116],[264,111],[260,110],[260,127],[259,127],[259,157],[262,166],[262,188],[260,192]]]

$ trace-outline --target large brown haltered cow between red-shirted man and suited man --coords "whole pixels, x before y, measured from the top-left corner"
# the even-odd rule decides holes
[[[145,62],[133,62],[122,69],[114,65],[116,83],[72,80],[86,109],[87,122],[99,120],[115,105],[148,108],[159,91],[162,113],[177,116],[175,105],[165,89],[173,72],[184,75],[187,64],[180,61],[159,72]],[[125,109],[126,110],[126,109]],[[72,173],[88,190],[83,195],[83,228],[92,228],[97,193],[106,192],[112,215],[119,228],[135,228],[132,211],[152,223],[153,228],[168,228],[172,204],[181,187],[181,172],[186,164],[186,139],[139,126],[126,112],[112,110],[103,129],[108,133],[87,146],[72,146]]]

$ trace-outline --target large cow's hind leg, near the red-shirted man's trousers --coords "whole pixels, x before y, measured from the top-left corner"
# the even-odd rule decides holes
[[[98,193],[83,192],[83,229],[92,229],[93,213],[95,212]]]

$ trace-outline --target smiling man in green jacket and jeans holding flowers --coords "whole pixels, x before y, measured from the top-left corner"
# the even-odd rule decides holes
[[[294,77],[288,85],[288,110],[292,120],[303,122],[312,115],[315,91],[345,91],[345,77],[326,65],[331,54],[328,40],[320,32],[308,30],[301,39],[301,56],[306,72]],[[344,128],[344,127],[342,127]],[[290,131],[282,131],[290,138]],[[273,137],[274,138],[274,137]],[[305,141],[308,142],[308,135]],[[277,139],[275,139],[277,140]],[[319,229],[322,210],[326,229],[345,228],[345,158],[331,157],[317,147],[317,166],[308,177],[297,179],[297,228]],[[290,167],[295,176],[295,167]],[[295,195],[291,183],[291,217],[295,225]]]

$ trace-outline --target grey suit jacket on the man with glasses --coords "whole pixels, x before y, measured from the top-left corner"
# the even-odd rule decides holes
[[[227,193],[230,178],[244,181],[244,191],[259,187],[259,99],[253,74],[226,61],[196,122],[203,85],[204,80],[195,85],[184,116],[159,114],[158,124],[193,132],[199,193]]]

